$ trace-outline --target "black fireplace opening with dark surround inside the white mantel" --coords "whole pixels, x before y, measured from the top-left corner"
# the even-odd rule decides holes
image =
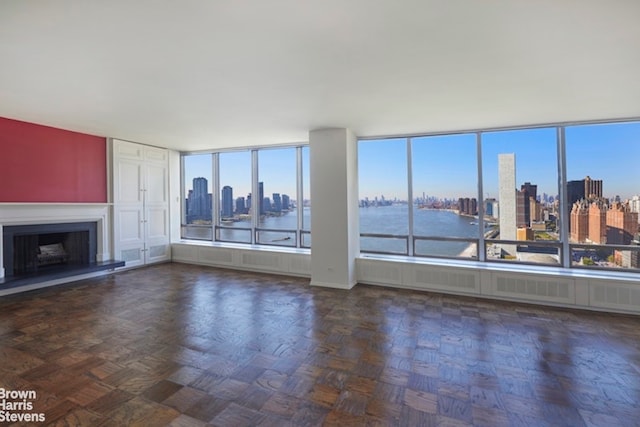
[[[96,230],[95,222],[3,227],[5,276],[41,275],[95,264]]]

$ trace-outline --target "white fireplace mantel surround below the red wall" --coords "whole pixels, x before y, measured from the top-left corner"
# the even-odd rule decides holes
[[[0,260],[4,226],[67,222],[96,222],[96,261],[112,259],[111,209],[111,203],[0,203]],[[4,261],[0,263],[0,278],[3,277]]]

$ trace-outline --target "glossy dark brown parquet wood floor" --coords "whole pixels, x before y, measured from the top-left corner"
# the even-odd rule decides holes
[[[640,426],[640,318],[164,264],[0,298],[0,387],[55,426]]]

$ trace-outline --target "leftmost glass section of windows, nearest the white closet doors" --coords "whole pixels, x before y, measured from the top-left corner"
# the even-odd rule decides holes
[[[206,225],[212,224],[212,155],[193,154],[185,155],[184,161],[184,186],[185,186],[185,223],[197,227],[183,227],[184,239],[211,239],[211,229],[206,231]],[[198,228],[196,230],[195,228]]]

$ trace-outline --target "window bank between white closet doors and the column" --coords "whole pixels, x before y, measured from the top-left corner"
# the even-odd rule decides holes
[[[310,247],[305,158],[306,146],[183,154],[182,238]]]

